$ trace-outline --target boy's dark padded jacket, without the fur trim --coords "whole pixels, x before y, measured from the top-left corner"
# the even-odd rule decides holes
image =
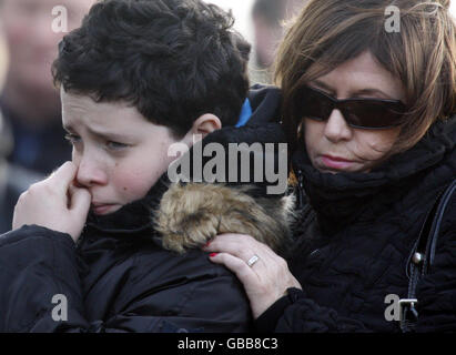
[[[268,141],[273,130],[272,140],[283,140],[277,124],[265,121],[272,118],[265,102],[278,106],[278,91],[256,88],[250,99],[249,126],[217,136],[236,142],[244,132],[254,142],[263,132]],[[77,245],[37,225],[0,236],[0,332],[249,331],[249,301],[232,273],[200,248],[181,255],[162,247],[151,214],[164,180],[111,215],[90,214]],[[55,295],[68,301],[68,314]]]

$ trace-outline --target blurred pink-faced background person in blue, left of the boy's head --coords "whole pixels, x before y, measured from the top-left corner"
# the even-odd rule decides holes
[[[63,139],[60,99],[52,83],[51,64],[64,31],[78,27],[93,2],[0,1],[0,23],[9,52],[0,108],[3,124],[13,139],[7,159],[14,169],[26,170],[24,174],[41,179],[70,158],[71,146]],[[62,24],[67,24],[67,29]]]

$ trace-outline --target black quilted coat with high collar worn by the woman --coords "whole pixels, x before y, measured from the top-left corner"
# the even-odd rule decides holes
[[[453,118],[366,174],[323,174],[305,150],[296,152],[306,203],[288,265],[303,291],[290,290],[257,320],[259,329],[399,332],[385,318],[385,297],[407,296],[407,258],[437,195],[456,178],[455,144]],[[417,300],[417,332],[456,331],[456,195]]]

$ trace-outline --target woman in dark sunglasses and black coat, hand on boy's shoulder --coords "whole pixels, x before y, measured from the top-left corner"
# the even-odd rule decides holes
[[[260,331],[412,328],[394,308],[408,295],[407,261],[456,178],[455,24],[449,1],[398,0],[399,31],[388,31],[389,4],[311,0],[281,47],[303,206],[291,272],[246,235],[205,248],[244,284]],[[417,332],[456,329],[456,194],[440,225],[433,267],[406,305]]]

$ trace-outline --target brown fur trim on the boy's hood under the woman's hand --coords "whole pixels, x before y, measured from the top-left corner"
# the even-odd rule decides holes
[[[293,196],[255,197],[254,185],[173,184],[155,214],[163,246],[183,253],[223,233],[253,236],[278,253],[291,241]]]

